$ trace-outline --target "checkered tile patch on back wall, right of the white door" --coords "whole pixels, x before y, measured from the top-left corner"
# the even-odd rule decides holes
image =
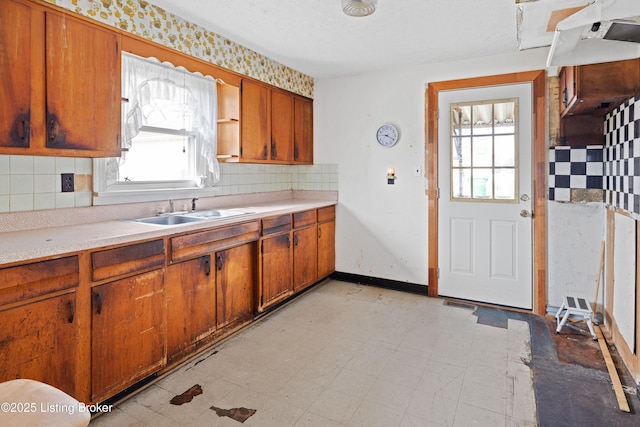
[[[571,201],[571,189],[602,189],[601,145],[549,148],[549,200]]]

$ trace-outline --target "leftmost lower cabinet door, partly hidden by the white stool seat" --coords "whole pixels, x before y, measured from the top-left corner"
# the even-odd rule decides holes
[[[75,306],[73,291],[0,311],[0,382],[29,378],[76,396]]]

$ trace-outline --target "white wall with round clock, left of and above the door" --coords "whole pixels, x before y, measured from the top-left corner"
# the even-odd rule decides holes
[[[318,80],[314,98],[315,161],[339,165],[336,269],[427,284],[425,90],[429,82],[544,69],[547,49],[349,78]],[[401,137],[379,147],[378,126]],[[386,171],[396,168],[395,185]]]

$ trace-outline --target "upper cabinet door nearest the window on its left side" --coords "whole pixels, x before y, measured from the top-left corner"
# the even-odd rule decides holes
[[[120,49],[115,32],[46,13],[46,146],[120,155]]]

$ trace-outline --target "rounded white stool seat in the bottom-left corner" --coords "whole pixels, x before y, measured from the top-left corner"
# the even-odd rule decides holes
[[[91,421],[91,413],[80,402],[34,380],[0,383],[0,404],[0,426],[86,427]]]

